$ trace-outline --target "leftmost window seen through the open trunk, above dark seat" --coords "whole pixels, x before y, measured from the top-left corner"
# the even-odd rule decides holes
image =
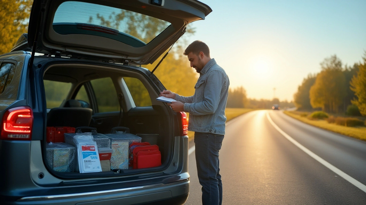
[[[44,80],[43,83],[45,86],[47,108],[60,107],[61,103],[67,97],[67,94],[70,92],[71,83],[49,80]]]

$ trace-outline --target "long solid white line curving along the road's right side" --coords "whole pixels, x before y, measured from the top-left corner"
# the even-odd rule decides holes
[[[325,167],[327,167],[328,169],[332,170],[333,172],[335,172],[336,174],[338,174],[340,177],[346,179],[348,182],[350,182],[351,184],[355,185],[356,187],[358,187],[359,189],[361,189],[363,192],[366,192],[366,186],[363,185],[361,182],[357,181],[356,179],[354,179],[353,177],[351,177],[350,175],[344,173],[343,171],[341,171],[340,169],[338,169],[337,167],[331,165],[329,162],[325,161],[324,159],[322,159],[320,156],[314,154],[314,152],[310,151],[309,149],[307,149],[306,147],[302,146],[300,143],[298,143],[296,140],[294,140],[293,138],[290,137],[290,135],[286,134],[284,131],[282,131],[282,129],[280,129],[271,119],[271,117],[269,116],[268,112],[266,113],[267,115],[267,119],[269,120],[269,122],[273,125],[273,127],[275,127],[277,129],[277,131],[279,131],[286,139],[288,139],[290,142],[292,142],[293,144],[295,144],[297,147],[299,147],[302,151],[304,151],[306,154],[310,155],[312,158],[314,158],[315,160],[317,160],[318,162],[320,162],[322,165],[324,165]]]

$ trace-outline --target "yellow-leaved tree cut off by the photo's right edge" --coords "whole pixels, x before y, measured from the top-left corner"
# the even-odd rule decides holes
[[[352,100],[352,104],[357,105],[360,113],[366,116],[366,51],[362,59],[363,63],[358,66],[357,75],[352,77],[350,88],[357,97]]]

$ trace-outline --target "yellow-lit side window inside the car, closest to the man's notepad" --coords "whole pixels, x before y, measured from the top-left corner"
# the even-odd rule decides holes
[[[128,90],[130,90],[137,107],[152,105],[149,92],[147,92],[147,89],[140,80],[131,77],[124,77],[123,79],[126,82]]]

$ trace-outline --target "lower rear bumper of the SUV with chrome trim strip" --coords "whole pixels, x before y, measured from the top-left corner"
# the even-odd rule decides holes
[[[154,184],[123,189],[60,194],[48,196],[23,197],[16,201],[2,201],[1,204],[58,204],[58,205],[104,205],[104,204],[183,204],[189,194],[188,178],[169,184]],[[183,203],[180,203],[182,202]]]

